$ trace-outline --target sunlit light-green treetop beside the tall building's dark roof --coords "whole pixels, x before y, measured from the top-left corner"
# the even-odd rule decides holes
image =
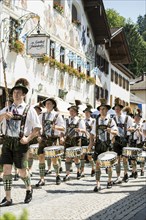
[[[126,19],[123,16],[120,16],[120,14],[114,9],[107,9],[106,14],[111,28],[125,26]]]

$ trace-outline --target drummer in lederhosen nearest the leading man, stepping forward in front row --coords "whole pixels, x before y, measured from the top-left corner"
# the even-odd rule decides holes
[[[47,98],[43,101],[47,111],[42,113],[39,118],[42,124],[42,132],[39,141],[38,158],[39,158],[39,171],[40,180],[36,184],[36,187],[45,185],[45,153],[44,148],[56,145],[60,132],[64,131],[64,120],[62,116],[57,112],[57,102],[54,98]],[[58,157],[51,158],[53,167],[56,173],[56,185],[61,183],[59,175]]]

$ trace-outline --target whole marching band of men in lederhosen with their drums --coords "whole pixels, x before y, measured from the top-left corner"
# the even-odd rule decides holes
[[[137,164],[140,175],[144,176],[146,160],[146,121],[141,112],[129,113],[120,99],[115,99],[112,107],[115,115],[108,114],[111,106],[101,99],[99,115],[92,118],[92,106],[87,106],[79,115],[79,103],[68,108],[69,117],[64,119],[57,109],[57,101],[48,97],[41,106],[32,107],[24,100],[28,92],[28,81],[21,78],[11,90],[13,102],[0,111],[0,182],[3,182],[5,197],[0,207],[13,204],[11,198],[12,169],[17,168],[19,177],[25,184],[24,203],[33,196],[31,186],[33,158],[38,158],[40,180],[35,187],[45,185],[45,175],[51,164],[56,174],[56,185],[71,181],[72,163],[76,165],[76,178],[85,177],[85,160],[91,165],[91,176],[95,176],[94,192],[101,190],[100,178],[104,168],[108,174],[107,188],[114,184],[127,183],[129,178],[137,178]],[[42,111],[43,106],[43,111]],[[48,170],[45,171],[45,160]],[[65,160],[65,176],[61,180],[61,164]],[[121,177],[121,165],[124,176]],[[128,176],[128,166],[132,172]],[[117,179],[112,181],[115,166]],[[17,171],[16,170],[16,171]],[[17,180],[17,179],[15,179]]]

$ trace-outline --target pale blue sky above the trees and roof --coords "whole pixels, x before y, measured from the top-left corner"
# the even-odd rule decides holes
[[[136,23],[139,15],[146,14],[146,0],[103,0],[105,9],[113,8],[121,16]]]

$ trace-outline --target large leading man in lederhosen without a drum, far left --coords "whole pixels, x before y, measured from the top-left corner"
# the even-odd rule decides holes
[[[29,142],[41,129],[39,118],[33,107],[24,102],[28,92],[28,81],[20,78],[12,88],[13,104],[5,107],[0,113],[0,121],[3,121],[4,142],[2,147],[1,162],[3,164],[3,183],[6,197],[0,207],[12,205],[12,164],[19,169],[19,175],[26,187],[24,203],[32,200],[32,187],[30,175],[27,172],[27,151]],[[30,127],[33,130],[30,130]]]

